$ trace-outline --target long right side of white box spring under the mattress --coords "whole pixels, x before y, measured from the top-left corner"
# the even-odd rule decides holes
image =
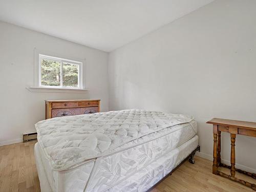
[[[191,138],[137,173],[111,187],[108,192],[144,192],[178,166],[198,145],[198,136]],[[95,190],[96,191],[96,190]]]

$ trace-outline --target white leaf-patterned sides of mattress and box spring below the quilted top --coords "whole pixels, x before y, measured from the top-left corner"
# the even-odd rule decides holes
[[[48,180],[51,190],[58,192],[84,191],[84,189],[85,191],[124,191],[123,187],[125,191],[144,191],[195,150],[198,144],[196,133],[195,120],[175,125],[143,136],[152,138],[145,139],[147,141],[145,143],[140,141],[143,137],[138,138],[131,141],[133,142],[131,148],[125,150],[120,148],[114,154],[86,160],[61,171],[52,169],[44,151],[36,144],[37,168],[39,172],[44,170],[47,178],[43,179],[40,176],[42,174],[39,173],[40,184],[45,185]],[[136,142],[139,144],[136,145]],[[41,161],[43,167],[38,167],[41,166],[38,161]],[[44,191],[44,187],[41,186],[41,189]],[[45,189],[49,192],[49,189],[46,187]]]

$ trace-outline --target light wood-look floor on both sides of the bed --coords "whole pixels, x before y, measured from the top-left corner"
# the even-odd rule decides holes
[[[17,143],[0,147],[0,191],[40,191],[34,144]],[[152,192],[167,191],[253,191],[239,183],[211,173],[212,162],[195,158],[186,161],[175,172],[157,185]]]

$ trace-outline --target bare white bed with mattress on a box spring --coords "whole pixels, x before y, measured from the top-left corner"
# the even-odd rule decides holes
[[[147,191],[198,146],[193,117],[122,110],[38,122],[42,192]]]

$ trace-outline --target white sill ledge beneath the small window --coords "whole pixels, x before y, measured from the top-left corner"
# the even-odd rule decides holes
[[[44,87],[27,87],[30,92],[45,92],[45,93],[84,93],[88,89],[70,89],[70,88],[44,88]]]

